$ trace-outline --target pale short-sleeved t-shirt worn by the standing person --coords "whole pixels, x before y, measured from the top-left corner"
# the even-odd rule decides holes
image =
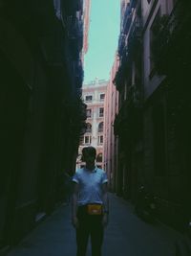
[[[73,181],[79,184],[77,204],[103,203],[102,184],[108,182],[105,171],[95,168],[88,171],[86,168],[78,169],[74,174]]]

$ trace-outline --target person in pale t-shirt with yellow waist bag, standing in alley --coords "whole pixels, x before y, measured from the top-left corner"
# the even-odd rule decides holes
[[[95,166],[96,149],[82,150],[84,168],[73,177],[72,222],[76,230],[76,256],[85,256],[91,238],[92,256],[101,256],[104,227],[108,224],[109,199],[106,173]]]

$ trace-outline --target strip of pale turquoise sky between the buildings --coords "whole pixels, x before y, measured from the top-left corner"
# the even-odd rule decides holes
[[[117,51],[120,0],[91,0],[89,49],[84,58],[84,83],[109,80]]]

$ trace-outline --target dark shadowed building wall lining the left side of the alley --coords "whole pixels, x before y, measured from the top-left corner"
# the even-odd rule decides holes
[[[74,173],[84,120],[80,3],[1,1],[0,247],[52,213],[61,175]]]

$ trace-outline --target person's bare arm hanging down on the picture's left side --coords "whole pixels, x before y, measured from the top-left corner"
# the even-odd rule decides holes
[[[78,220],[77,220],[77,197],[78,197],[79,185],[74,182],[74,190],[73,190],[73,197],[72,197],[72,222],[75,228],[78,227]]]

